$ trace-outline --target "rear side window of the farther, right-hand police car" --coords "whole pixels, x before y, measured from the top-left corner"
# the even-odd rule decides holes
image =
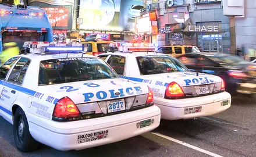
[[[125,69],[125,57],[112,55],[108,59],[109,65],[116,71],[116,73],[123,75]]]

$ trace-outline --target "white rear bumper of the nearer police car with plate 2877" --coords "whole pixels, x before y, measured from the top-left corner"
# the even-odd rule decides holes
[[[61,151],[69,151],[109,144],[154,130],[160,124],[161,112],[154,105],[118,115],[64,123],[29,113],[26,116],[35,140]]]

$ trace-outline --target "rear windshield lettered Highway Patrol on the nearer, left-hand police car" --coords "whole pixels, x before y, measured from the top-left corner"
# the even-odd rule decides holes
[[[100,58],[62,58],[42,60],[39,85],[119,78]]]

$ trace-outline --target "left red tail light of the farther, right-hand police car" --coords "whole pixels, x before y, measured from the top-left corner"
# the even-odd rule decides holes
[[[176,82],[169,83],[165,90],[165,98],[180,98],[184,97],[184,92],[182,90],[182,87],[180,87],[179,84]]]

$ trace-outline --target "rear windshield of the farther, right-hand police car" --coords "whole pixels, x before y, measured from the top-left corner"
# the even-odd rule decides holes
[[[142,75],[189,72],[186,66],[170,56],[140,56],[137,63]]]

